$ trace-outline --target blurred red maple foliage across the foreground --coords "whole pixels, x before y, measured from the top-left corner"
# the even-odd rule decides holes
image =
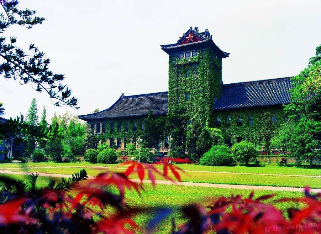
[[[173,159],[173,161],[183,161]],[[156,164],[127,162],[122,173],[106,172],[93,180],[74,186],[76,193],[63,187],[31,189],[21,195],[8,196],[1,192],[0,232],[7,233],[134,233],[143,232],[134,221],[134,215],[153,213],[147,230],[153,228],[169,214],[170,208],[131,208],[124,200],[126,189],[143,191],[142,183],[129,176],[137,174],[140,182],[149,178],[155,185],[155,176],[180,180],[177,166],[165,163],[163,169]],[[169,171],[174,178],[169,176]],[[8,182],[6,182],[8,183]],[[115,193],[114,189],[117,192]],[[114,191],[114,192],[112,192]],[[178,230],[173,221],[173,233],[321,233],[321,193],[311,195],[305,190],[303,198],[283,198],[275,203],[304,204],[302,209],[289,209],[289,219],[273,204],[265,202],[274,195],[254,199],[240,195],[211,199],[207,206],[190,204],[181,209],[186,223]],[[5,199],[3,199],[5,197]],[[110,209],[114,207],[114,209]],[[177,211],[177,210],[176,210]]]

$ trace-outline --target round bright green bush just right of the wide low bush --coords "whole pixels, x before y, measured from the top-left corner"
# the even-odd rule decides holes
[[[249,162],[256,161],[256,149],[252,142],[241,141],[232,147],[232,154],[236,161],[248,165]]]

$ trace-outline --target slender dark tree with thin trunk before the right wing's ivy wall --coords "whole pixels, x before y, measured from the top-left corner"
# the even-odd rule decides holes
[[[263,149],[267,152],[267,165],[270,165],[271,140],[275,130],[275,124],[272,121],[272,117],[273,115],[270,112],[265,112],[260,120],[262,125],[262,145]]]

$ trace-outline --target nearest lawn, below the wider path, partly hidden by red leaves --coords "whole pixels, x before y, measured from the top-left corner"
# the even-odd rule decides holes
[[[24,175],[6,175],[1,174],[2,176],[15,178],[15,179],[24,179],[25,181],[30,181],[29,176]],[[48,184],[49,177],[39,177],[37,180],[37,187],[45,186]],[[54,178],[55,180],[59,180],[59,178]],[[137,207],[161,207],[161,206],[170,206],[173,208],[181,207],[190,203],[201,203],[208,204],[211,201],[211,198],[219,197],[219,196],[230,196],[234,195],[243,195],[248,196],[251,191],[245,189],[224,189],[224,188],[209,188],[209,187],[194,187],[194,186],[175,186],[175,185],[156,185],[156,187],[152,187],[151,184],[144,184],[145,192],[142,193],[140,197],[134,191],[126,191],[125,197],[128,204],[131,206]],[[267,194],[276,194],[273,199],[268,200],[267,202],[273,203],[276,199],[283,197],[302,197],[304,194],[302,192],[285,192],[285,191],[255,191],[255,198],[267,195]],[[287,208],[293,207],[298,208],[298,204],[291,203],[283,203],[276,204],[276,207],[281,209],[283,212],[286,211]],[[178,213],[174,213],[173,217],[179,223],[183,222],[181,215]],[[149,216],[140,215],[136,216],[135,221],[137,221],[141,227],[145,227]],[[163,222],[163,225],[160,226],[156,233],[169,233],[171,231],[170,227],[171,220],[170,218]]]

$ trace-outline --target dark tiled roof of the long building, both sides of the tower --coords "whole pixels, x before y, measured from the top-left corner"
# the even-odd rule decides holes
[[[290,102],[290,77],[224,84],[221,97],[213,104],[214,110],[283,105]],[[120,98],[108,109],[80,115],[82,120],[147,116],[166,114],[168,92],[148,93]]]

